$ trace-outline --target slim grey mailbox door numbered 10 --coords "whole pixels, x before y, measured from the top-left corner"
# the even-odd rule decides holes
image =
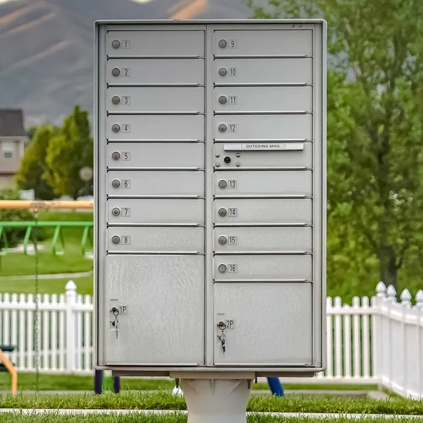
[[[312,59],[216,59],[216,85],[311,85]]]

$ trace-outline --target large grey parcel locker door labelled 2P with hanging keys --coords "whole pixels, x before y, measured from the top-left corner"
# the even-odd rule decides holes
[[[215,283],[214,364],[312,364],[311,283]],[[226,329],[223,355],[217,336]]]

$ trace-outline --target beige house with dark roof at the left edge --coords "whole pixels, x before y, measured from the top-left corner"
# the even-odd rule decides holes
[[[0,109],[0,188],[13,187],[29,139],[21,109]]]

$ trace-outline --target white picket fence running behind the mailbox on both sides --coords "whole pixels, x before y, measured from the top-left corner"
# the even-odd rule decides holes
[[[65,291],[39,296],[38,325],[33,295],[0,294],[0,344],[16,345],[10,357],[18,370],[33,372],[39,360],[41,372],[92,372],[92,297],[78,295],[73,281]],[[402,396],[423,398],[423,291],[417,293],[416,305],[411,300],[405,289],[397,302],[396,290],[382,282],[376,296],[355,297],[352,305],[327,298],[326,371],[299,380],[379,384]]]

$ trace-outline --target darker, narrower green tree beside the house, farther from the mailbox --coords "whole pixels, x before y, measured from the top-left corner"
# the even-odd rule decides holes
[[[21,190],[34,190],[35,198],[52,200],[54,192],[47,181],[42,177],[46,170],[46,154],[49,142],[54,136],[55,129],[51,125],[39,126],[25,148],[20,161],[20,168],[16,173],[16,183]]]

